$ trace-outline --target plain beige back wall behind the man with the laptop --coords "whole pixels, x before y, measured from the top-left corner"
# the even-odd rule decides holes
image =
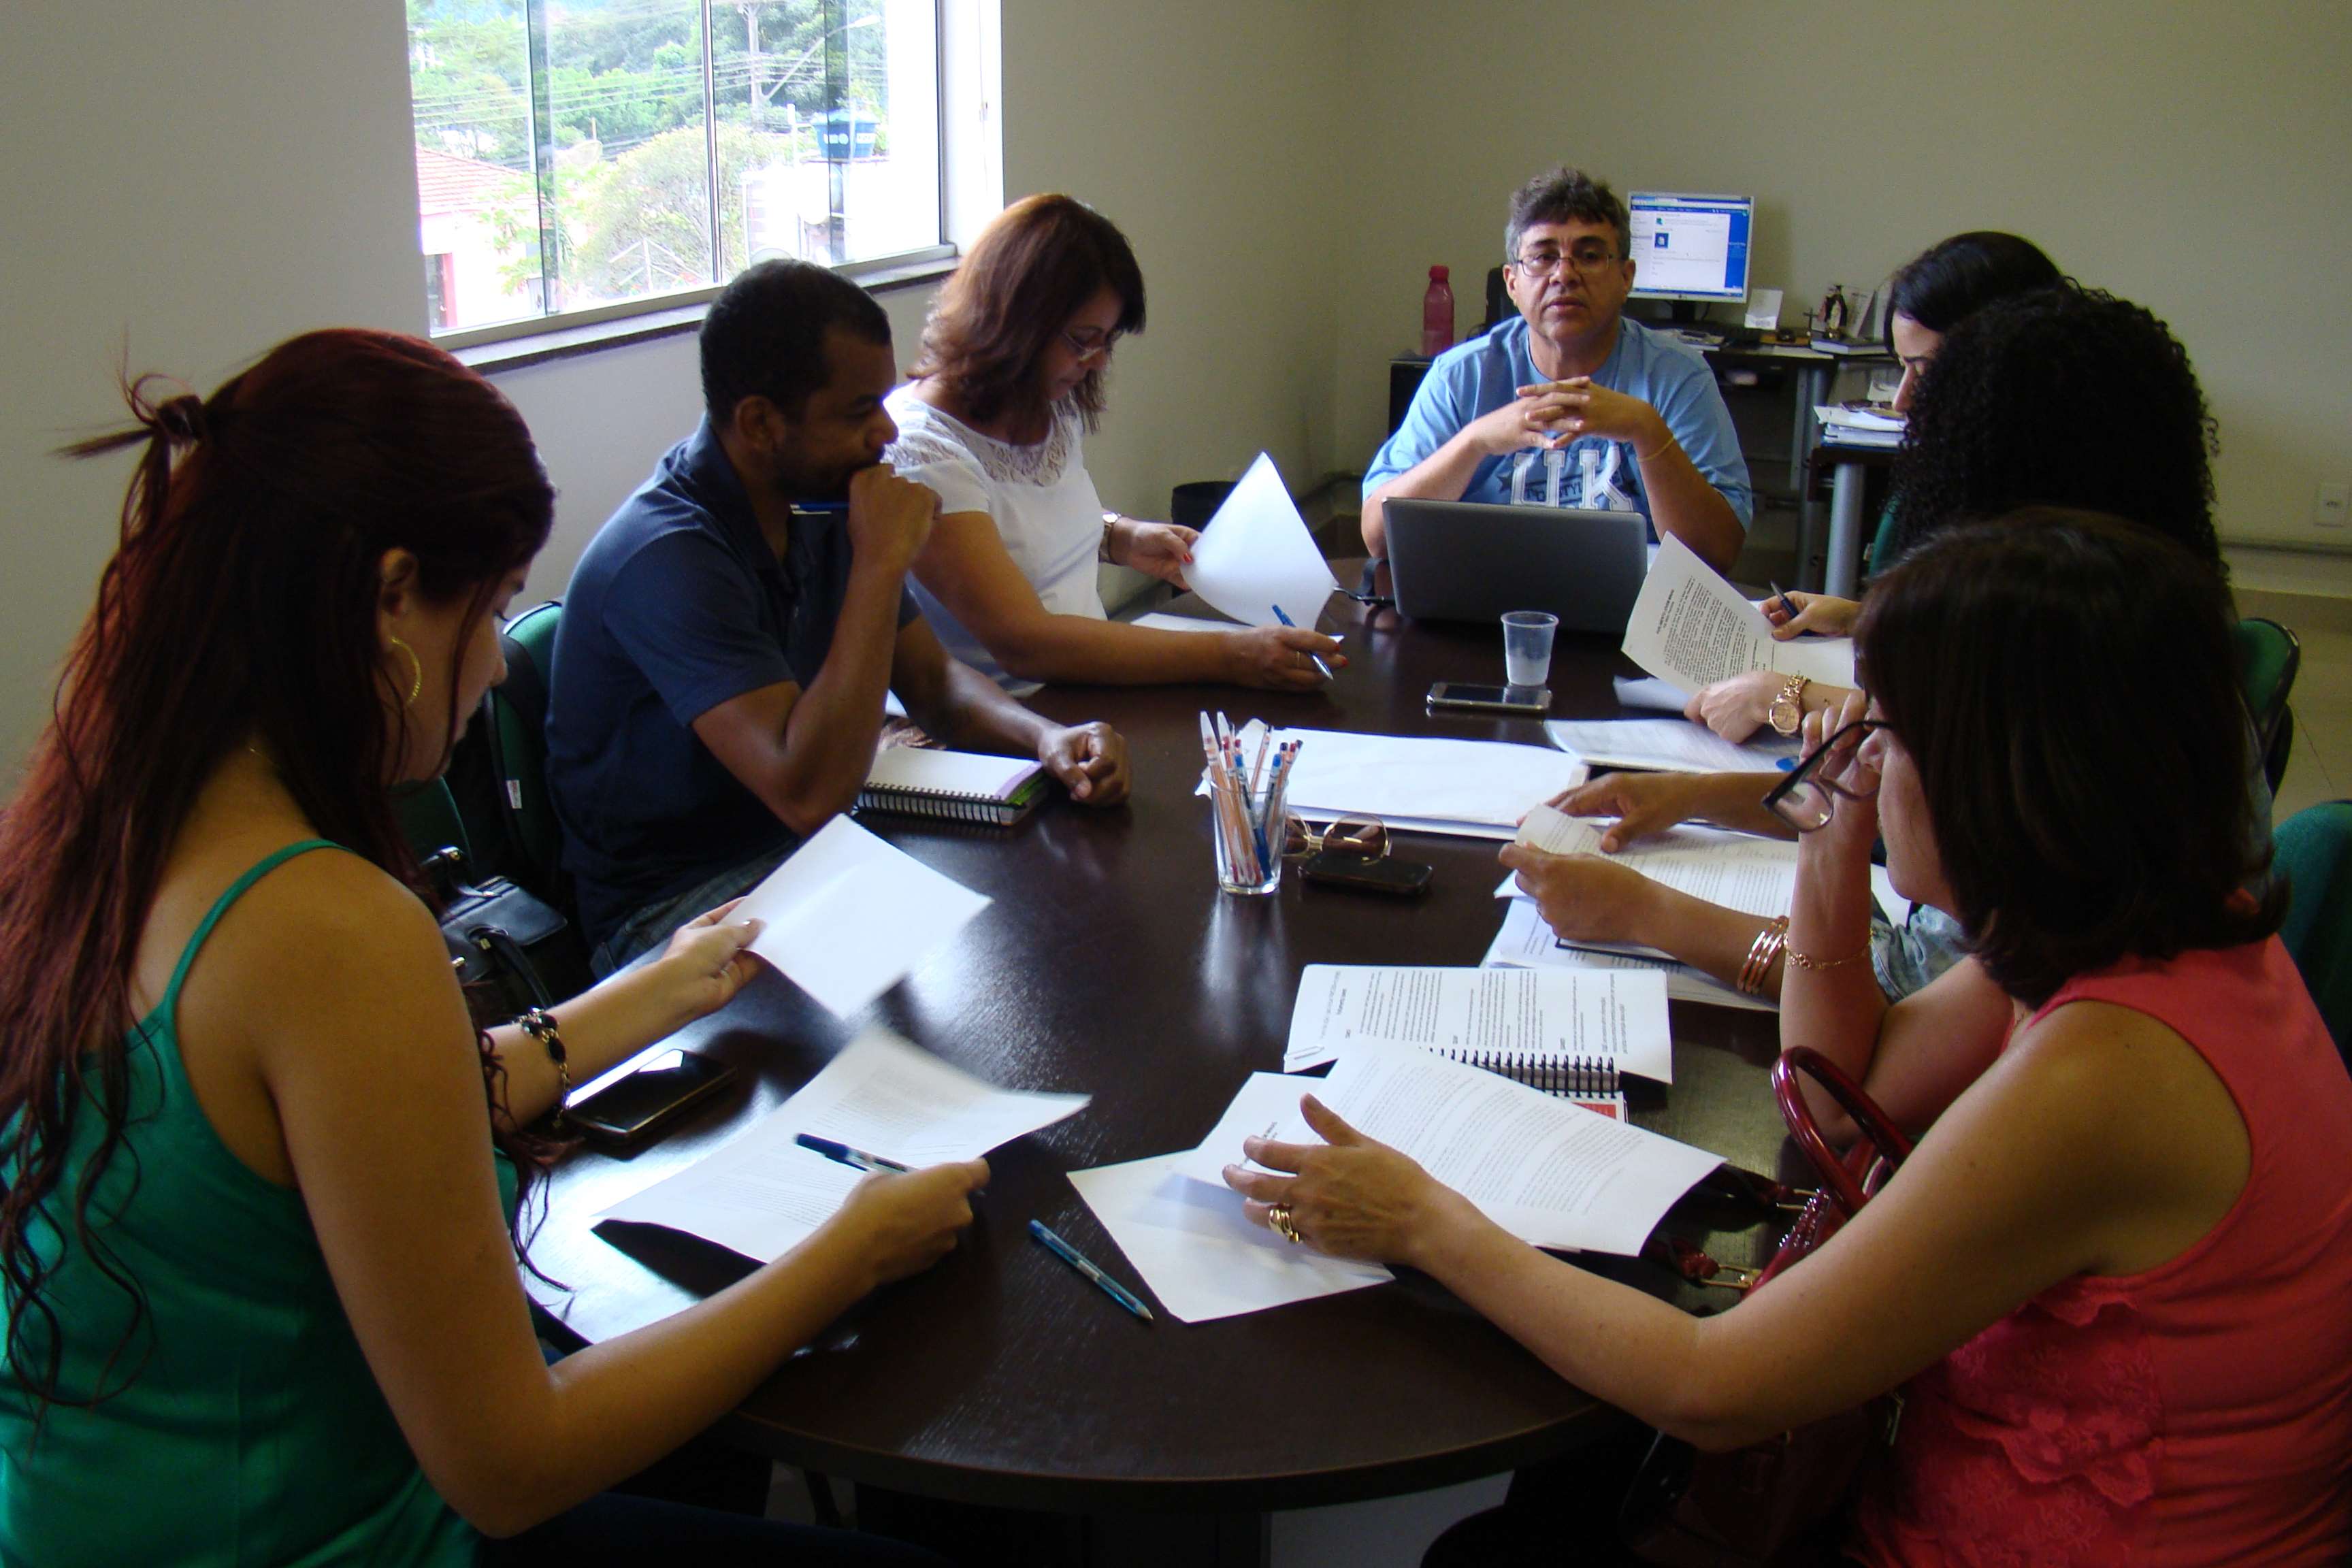
[[[1576,162],[1621,193],[1752,193],[1788,320],[1947,233],[2023,233],[2187,346],[2225,534],[2352,545],[2305,522],[2352,477],[2340,0],[1362,0],[1350,33],[1345,463],[1381,440],[1428,263],[1477,324],[1510,190]]]

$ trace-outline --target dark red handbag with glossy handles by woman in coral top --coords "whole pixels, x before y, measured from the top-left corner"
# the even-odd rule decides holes
[[[1839,1154],[1820,1135],[1797,1074],[1835,1098],[1860,1138]],[[1762,1288],[1818,1248],[1870,1201],[1912,1143],[1846,1072],[1804,1046],[1773,1063],[1773,1098],[1820,1187],[1804,1201],[1771,1262],[1748,1288]],[[1661,1568],[1795,1568],[1820,1563],[1837,1547],[1846,1497],[1863,1465],[1893,1446],[1900,1394],[1882,1394],[1806,1427],[1733,1453],[1698,1453],[1663,1432],[1625,1493],[1618,1535]]]

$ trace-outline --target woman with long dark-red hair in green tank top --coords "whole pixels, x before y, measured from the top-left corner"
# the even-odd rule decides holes
[[[983,1166],[868,1182],[731,1291],[548,1366],[492,1143],[560,1072],[468,1023],[386,802],[501,675],[553,512],[529,433],[372,331],[132,409],[80,449],[139,447],[139,477],[0,816],[0,1559],[475,1563],[501,1535],[496,1561],[583,1563],[788,1530],[597,1493],[948,1251]],[[694,922],[543,1037],[602,1072],[724,1004],[746,940]]]

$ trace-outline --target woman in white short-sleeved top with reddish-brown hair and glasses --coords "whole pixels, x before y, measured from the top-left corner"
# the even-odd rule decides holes
[[[889,397],[901,477],[938,491],[915,557],[915,599],[950,654],[1014,691],[1040,682],[1232,682],[1305,691],[1315,656],[1348,663],[1308,625],[1197,632],[1103,616],[1096,564],[1183,588],[1192,529],[1108,510],[1084,437],[1103,414],[1110,350],[1143,331],[1143,270],[1103,214],[1030,195],[981,230],[938,292],[913,381]]]

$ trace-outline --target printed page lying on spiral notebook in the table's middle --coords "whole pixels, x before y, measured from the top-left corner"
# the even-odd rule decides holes
[[[1362,1041],[1437,1053],[1592,1058],[1658,1084],[1675,1081],[1663,973],[1308,964],[1282,1070],[1322,1067]]]

